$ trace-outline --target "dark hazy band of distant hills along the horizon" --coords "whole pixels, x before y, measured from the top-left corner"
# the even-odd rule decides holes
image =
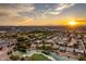
[[[0,31],[32,31],[32,30],[78,30],[86,31],[86,26],[0,26]]]

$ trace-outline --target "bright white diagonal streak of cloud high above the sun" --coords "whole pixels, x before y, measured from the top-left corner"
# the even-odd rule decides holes
[[[50,11],[49,14],[59,15],[63,10],[75,5],[74,3],[61,3],[54,10]]]

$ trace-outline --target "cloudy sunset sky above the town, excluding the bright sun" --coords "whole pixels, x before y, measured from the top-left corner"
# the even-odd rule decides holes
[[[0,26],[86,25],[85,3],[0,3]]]

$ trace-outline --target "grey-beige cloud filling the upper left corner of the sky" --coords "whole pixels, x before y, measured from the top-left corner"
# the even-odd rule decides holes
[[[14,17],[20,16],[20,12],[32,12],[34,10],[34,4],[15,4],[15,3],[5,3],[0,4],[0,17]]]

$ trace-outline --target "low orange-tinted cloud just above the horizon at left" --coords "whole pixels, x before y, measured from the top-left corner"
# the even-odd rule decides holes
[[[8,18],[7,21],[0,22],[1,26],[29,26],[32,25],[33,18],[29,17],[15,17],[15,18]]]

